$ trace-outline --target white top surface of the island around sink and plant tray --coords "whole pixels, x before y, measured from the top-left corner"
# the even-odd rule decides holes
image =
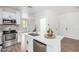
[[[60,36],[60,35],[55,35],[55,38],[53,38],[53,39],[45,38],[44,35],[42,35],[42,34],[40,34],[39,36],[31,36],[28,33],[24,33],[24,35],[28,35],[28,36],[32,37],[33,39],[38,40],[44,44],[52,44],[55,41],[61,41],[63,38],[63,36]]]

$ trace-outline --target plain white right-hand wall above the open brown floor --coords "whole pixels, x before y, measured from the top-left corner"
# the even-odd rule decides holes
[[[65,37],[79,39],[79,12],[71,12],[59,15],[59,34]]]

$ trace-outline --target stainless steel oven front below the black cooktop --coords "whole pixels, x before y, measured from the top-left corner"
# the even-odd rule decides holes
[[[3,48],[12,46],[17,43],[16,33],[4,34]]]

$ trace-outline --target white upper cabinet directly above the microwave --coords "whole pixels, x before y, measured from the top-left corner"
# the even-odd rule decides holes
[[[16,10],[11,8],[2,8],[2,18],[16,19]]]

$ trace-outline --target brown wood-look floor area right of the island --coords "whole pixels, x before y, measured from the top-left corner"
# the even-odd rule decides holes
[[[61,41],[61,52],[79,52],[79,40],[63,38]]]

